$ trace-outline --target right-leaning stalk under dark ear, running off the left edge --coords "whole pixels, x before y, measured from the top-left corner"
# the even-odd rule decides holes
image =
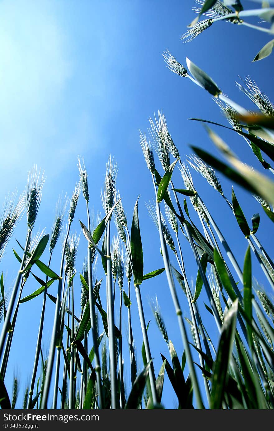
[[[6,335],[9,329],[9,322],[11,320],[11,315],[13,312],[13,307],[15,304],[15,300],[16,300],[16,296],[17,296],[17,292],[20,286],[20,282],[21,282],[21,278],[22,278],[22,270],[24,268],[25,265],[25,258],[27,256],[27,250],[28,250],[28,244],[30,241],[30,237],[31,237],[31,229],[28,230],[28,234],[27,234],[27,238],[26,238],[26,243],[25,243],[25,250],[24,250],[24,254],[22,257],[22,262],[20,265],[20,269],[18,272],[18,275],[16,277],[16,281],[15,284],[13,286],[13,291],[9,300],[9,306],[8,309],[6,310],[6,318],[4,320],[4,324],[3,324],[3,328],[2,328],[2,332],[1,332],[1,337],[0,337],[0,359],[2,358],[3,355],[3,348],[4,348],[4,344],[6,341]]]

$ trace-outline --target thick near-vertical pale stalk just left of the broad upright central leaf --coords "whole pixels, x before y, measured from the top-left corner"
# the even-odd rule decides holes
[[[117,370],[114,340],[113,289],[110,257],[110,220],[107,222],[107,329],[110,353],[111,408],[117,409]]]

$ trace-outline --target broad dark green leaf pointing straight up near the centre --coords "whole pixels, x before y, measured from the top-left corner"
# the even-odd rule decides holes
[[[132,256],[134,284],[141,284],[144,275],[143,248],[139,226],[138,199],[136,200],[130,233],[130,249]]]

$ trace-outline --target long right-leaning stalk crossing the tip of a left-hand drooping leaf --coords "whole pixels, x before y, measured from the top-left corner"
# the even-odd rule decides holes
[[[56,337],[57,337],[58,326],[60,323],[59,312],[60,312],[60,306],[61,306],[61,293],[62,293],[62,280],[63,280],[65,251],[66,251],[66,243],[67,243],[67,240],[69,237],[70,226],[71,226],[71,222],[69,222],[69,226],[68,226],[68,229],[66,232],[66,238],[65,238],[65,241],[63,244],[62,258],[61,258],[61,264],[60,264],[60,278],[59,278],[59,283],[58,283],[56,307],[55,307],[55,314],[54,314],[54,325],[53,325],[51,341],[50,341],[50,351],[49,351],[48,362],[47,362],[47,373],[46,373],[46,378],[45,378],[41,409],[47,409],[47,400],[48,400],[48,396],[49,396],[49,392],[50,392],[50,382],[51,382],[51,378],[52,378],[52,371],[53,371],[53,366],[54,366],[54,357],[55,357],[55,350],[56,350]]]

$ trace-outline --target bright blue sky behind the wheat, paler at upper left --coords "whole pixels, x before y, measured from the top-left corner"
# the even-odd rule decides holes
[[[243,3],[247,7],[254,6],[249,1]],[[34,164],[38,165],[47,178],[36,229],[46,227],[50,232],[55,203],[62,192],[71,195],[78,181],[77,157],[83,156],[89,175],[91,206],[103,213],[100,191],[111,153],[118,163],[117,187],[129,223],[135,200],[141,195],[139,212],[145,272],[163,266],[158,233],[145,207],[145,202],[153,199],[153,188],[139,145],[139,129],[146,131],[148,118],[154,115],[154,111],[163,109],[170,134],[184,158],[190,153],[189,144],[216,153],[202,125],[190,122],[188,118],[210,119],[223,124],[225,120],[210,95],[190,80],[170,72],[161,54],[169,49],[184,65],[188,56],[211,75],[224,93],[247,109],[255,109],[255,106],[236,88],[238,75],[242,78],[250,75],[261,90],[274,99],[273,56],[251,63],[269,40],[268,36],[243,26],[219,22],[191,43],[183,44],[180,36],[194,18],[192,6],[195,4],[190,0],[0,2],[3,17],[0,28],[1,201],[8,191],[17,188],[21,192],[28,170]],[[244,157],[247,163],[260,170],[246,143],[237,134],[221,129],[216,131],[239,157]],[[160,170],[159,165],[158,168]],[[236,221],[206,181],[198,174],[193,173],[192,176],[242,265],[247,244]],[[178,188],[183,187],[180,175],[175,174],[174,178]],[[225,193],[231,196],[230,182],[222,175],[220,180]],[[235,187],[235,191],[248,219],[253,213],[260,212],[263,223],[258,237],[271,255],[269,223],[260,205],[239,187]],[[83,199],[73,226],[80,233],[78,218],[85,219]],[[196,222],[198,224],[198,219]],[[12,285],[17,271],[12,247],[16,247],[15,238],[24,242],[25,231],[23,216],[0,263],[6,288]],[[85,245],[85,239],[81,237],[78,270],[82,269]],[[189,279],[195,279],[197,269],[186,241],[183,241],[183,248]],[[57,246],[56,270],[59,268],[59,254],[60,247]],[[266,285],[265,277],[255,262],[254,271]],[[25,294],[35,289],[35,283],[30,280]],[[153,319],[147,298],[155,293],[169,337],[180,356],[182,345],[164,275],[157,280],[146,281],[142,287],[147,320]],[[206,300],[206,297],[202,299]],[[189,316],[181,293],[180,301],[186,310],[185,315]],[[134,297],[132,303],[136,347],[139,366],[142,367],[142,338]],[[202,305],[201,301],[200,308]],[[9,391],[13,373],[20,376],[22,390],[29,379],[40,309],[40,297],[20,307],[6,375]],[[49,304],[44,331],[45,349],[50,340],[53,312],[53,306]],[[208,318],[208,331],[212,329],[212,337],[216,337],[214,322],[204,309],[202,312]],[[126,313],[124,319],[126,322]],[[168,352],[153,321],[149,332],[155,334],[151,337],[151,350],[157,373],[161,366],[159,351],[166,356]],[[126,373],[129,379],[128,370]],[[167,378],[165,384],[167,390],[163,402],[167,408],[173,408],[175,397],[170,395]],[[18,406],[21,400],[22,396]]]

